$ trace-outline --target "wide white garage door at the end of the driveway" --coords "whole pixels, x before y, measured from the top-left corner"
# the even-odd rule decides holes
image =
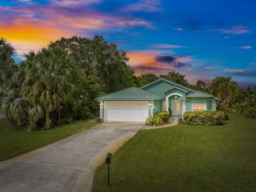
[[[148,117],[148,102],[106,102],[106,121],[145,122]]]

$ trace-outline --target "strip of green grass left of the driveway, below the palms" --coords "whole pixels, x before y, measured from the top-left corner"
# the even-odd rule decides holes
[[[0,161],[42,147],[69,135],[84,131],[95,122],[77,121],[47,131],[14,131],[8,129],[7,118],[0,119]]]

